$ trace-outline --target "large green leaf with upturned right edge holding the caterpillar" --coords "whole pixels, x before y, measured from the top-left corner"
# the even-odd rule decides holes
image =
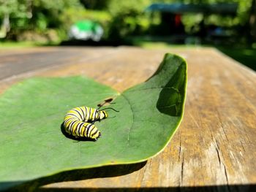
[[[187,64],[166,54],[146,82],[118,93],[85,77],[32,78],[0,98],[0,183],[71,169],[146,161],[164,149],[184,112]],[[95,123],[97,142],[64,137],[65,113],[116,98],[110,118]],[[103,107],[104,108],[104,107]]]

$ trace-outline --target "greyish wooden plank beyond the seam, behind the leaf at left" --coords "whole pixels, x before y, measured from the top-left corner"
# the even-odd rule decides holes
[[[82,51],[83,50],[83,51]],[[40,47],[0,52],[0,93],[15,82],[39,75],[44,71],[56,71],[65,65],[97,60],[111,54],[113,49],[72,47]]]

